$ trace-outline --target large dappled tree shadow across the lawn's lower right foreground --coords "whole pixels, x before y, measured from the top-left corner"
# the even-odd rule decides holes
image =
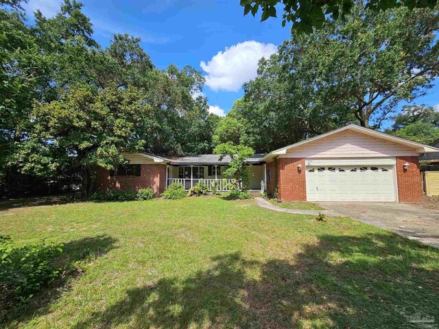
[[[393,234],[327,234],[293,259],[212,260],[128,289],[74,328],[401,328],[407,312],[439,312],[439,253]]]

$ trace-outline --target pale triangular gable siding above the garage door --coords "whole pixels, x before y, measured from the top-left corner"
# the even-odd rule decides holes
[[[370,158],[375,156],[417,156],[400,144],[359,132],[344,130],[287,150],[281,158]]]

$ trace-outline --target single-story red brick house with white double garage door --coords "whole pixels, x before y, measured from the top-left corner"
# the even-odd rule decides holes
[[[439,151],[357,125],[256,154],[248,159],[254,174],[250,188],[263,188],[282,201],[420,202],[423,189],[419,154]],[[152,187],[162,193],[172,182],[190,188],[200,180],[226,191],[230,180],[215,154],[163,158],[124,154],[130,164],[115,172],[102,169],[101,188]]]

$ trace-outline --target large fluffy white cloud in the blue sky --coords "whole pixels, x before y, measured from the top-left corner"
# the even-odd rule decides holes
[[[200,63],[207,73],[206,85],[215,91],[238,91],[244,82],[256,77],[258,61],[275,52],[276,46],[272,43],[254,40],[226,47],[226,50],[218,51],[209,62]]]

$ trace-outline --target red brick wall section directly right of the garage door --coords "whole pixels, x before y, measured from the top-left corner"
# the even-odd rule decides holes
[[[404,169],[406,162],[409,167]],[[417,156],[396,157],[396,180],[398,181],[399,202],[423,201],[423,188]]]

